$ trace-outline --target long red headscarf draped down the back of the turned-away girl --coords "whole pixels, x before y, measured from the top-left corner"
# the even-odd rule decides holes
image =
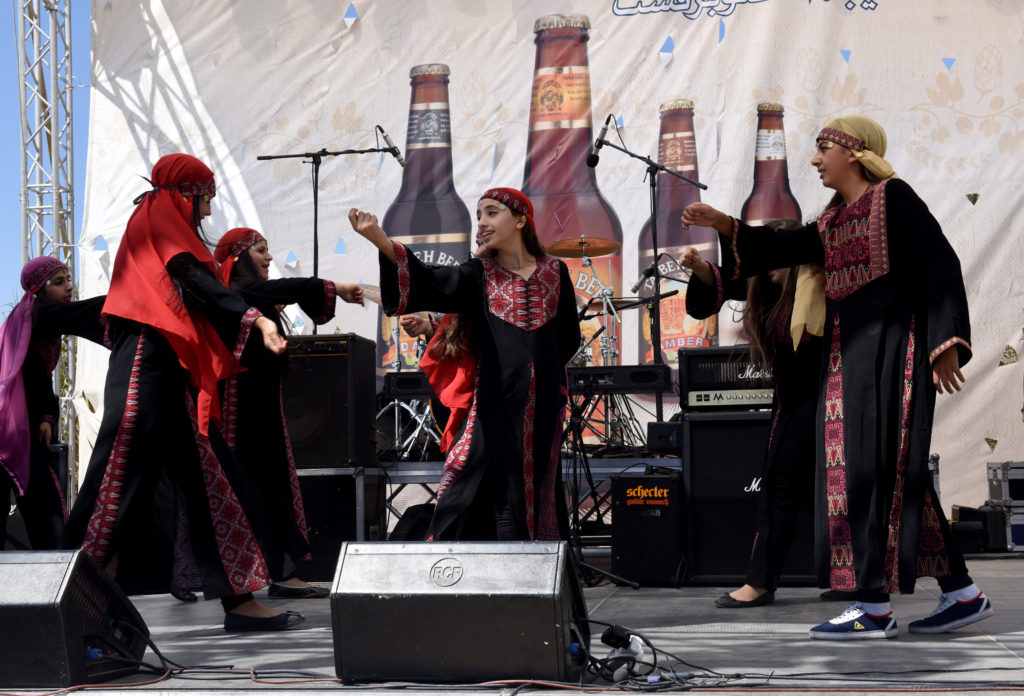
[[[217,273],[210,250],[193,224],[194,195],[216,192],[213,172],[189,155],[167,155],[153,168],[154,190],[143,193],[118,248],[103,313],[153,327],[167,339],[199,389],[199,429],[220,422],[217,382],[241,372],[239,361],[202,315],[185,308],[167,273],[182,252]]]

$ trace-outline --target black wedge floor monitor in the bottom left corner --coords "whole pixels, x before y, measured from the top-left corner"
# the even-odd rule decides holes
[[[86,554],[0,553],[0,687],[95,684],[138,670],[145,622]]]

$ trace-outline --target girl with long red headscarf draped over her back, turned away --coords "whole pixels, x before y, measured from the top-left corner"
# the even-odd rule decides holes
[[[201,238],[213,172],[168,155],[152,183],[135,200],[103,305],[112,344],[103,420],[67,540],[128,594],[202,589],[221,598],[226,630],[286,628],[302,616],[251,595],[270,583],[259,520],[245,512],[256,508],[217,428],[218,382],[241,369],[252,329],[270,352],[286,344],[216,275]]]

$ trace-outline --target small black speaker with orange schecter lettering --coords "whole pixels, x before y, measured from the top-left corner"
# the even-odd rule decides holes
[[[611,475],[611,572],[643,585],[682,580],[682,474]]]

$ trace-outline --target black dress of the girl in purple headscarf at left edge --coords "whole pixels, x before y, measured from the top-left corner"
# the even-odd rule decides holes
[[[32,342],[22,363],[25,401],[29,415],[32,442],[29,452],[29,485],[17,498],[25,520],[29,543],[35,550],[59,549],[68,508],[63,472],[56,469],[57,455],[39,441],[37,433],[43,422],[53,426],[54,443],[60,417],[59,402],[53,393],[53,373],[44,352],[59,351],[61,336],[79,336],[95,343],[103,342],[105,323],[99,316],[105,296],[78,302],[37,303],[33,307]],[[0,502],[10,498],[12,489],[7,472],[0,469]],[[6,538],[6,507],[0,515],[0,549]]]

